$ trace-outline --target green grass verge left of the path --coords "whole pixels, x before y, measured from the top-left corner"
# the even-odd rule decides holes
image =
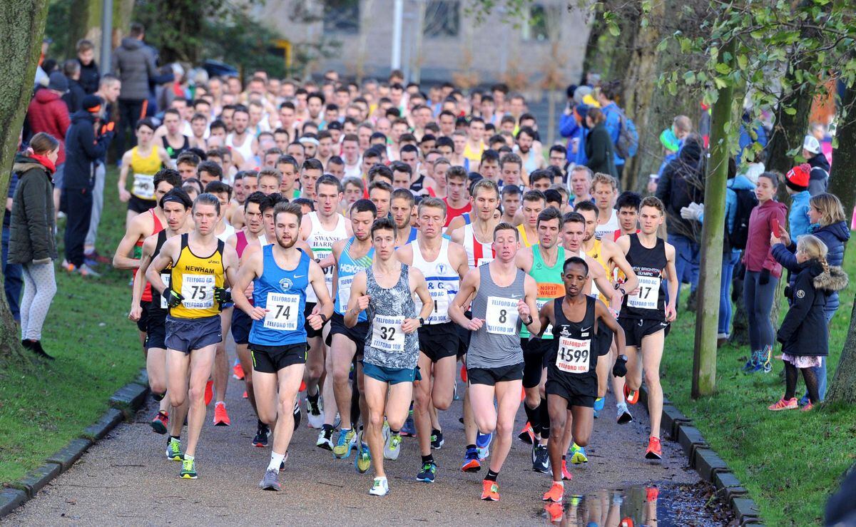
[[[112,255],[124,234],[126,208],[115,182],[113,169],[98,232],[105,255]],[[56,360],[27,372],[0,372],[0,483],[20,478],[80,436],[108,408],[110,395],[145,365],[136,326],[128,320],[128,271],[102,265],[101,278],[85,279],[58,264],[56,297],[42,336]]]

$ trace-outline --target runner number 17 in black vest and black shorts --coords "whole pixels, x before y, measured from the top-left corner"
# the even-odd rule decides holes
[[[627,335],[627,384],[624,396],[630,404],[639,400],[642,371],[648,389],[651,437],[646,459],[663,459],[660,444],[660,417],[663,413],[663,388],[660,386],[660,360],[669,323],[675,320],[678,276],[675,272],[675,247],[657,236],[663,224],[663,202],[649,196],[639,206],[639,234],[621,236],[615,245],[627,256],[627,262],[639,277],[639,287],[627,295],[618,323]],[[664,297],[663,273],[669,280],[669,302]],[[638,353],[642,357],[639,358]]]

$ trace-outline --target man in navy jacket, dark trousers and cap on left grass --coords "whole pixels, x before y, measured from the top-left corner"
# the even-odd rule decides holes
[[[96,138],[94,129],[100,112],[101,99],[87,95],[83,99],[83,110],[72,115],[71,127],[68,127],[66,136],[66,178],[61,200],[62,210],[68,218],[65,227],[65,261],[62,266],[80,275],[96,277],[98,273],[84,262],[83,246],[92,218],[95,172],[113,138],[112,123],[104,125],[102,133]]]

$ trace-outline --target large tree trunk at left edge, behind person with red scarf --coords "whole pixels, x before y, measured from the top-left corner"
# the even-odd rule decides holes
[[[12,161],[21,136],[27,103],[41,54],[48,15],[47,0],[3,0],[0,3],[0,195],[9,192]],[[2,275],[2,270],[0,270]],[[0,364],[27,364],[6,295],[0,294]],[[0,367],[3,370],[3,367]]]

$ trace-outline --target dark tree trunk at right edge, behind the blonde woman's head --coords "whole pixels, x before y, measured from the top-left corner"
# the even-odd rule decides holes
[[[856,206],[856,86],[845,88],[838,112],[838,148],[832,154],[829,192],[841,199],[844,213],[850,216]]]

